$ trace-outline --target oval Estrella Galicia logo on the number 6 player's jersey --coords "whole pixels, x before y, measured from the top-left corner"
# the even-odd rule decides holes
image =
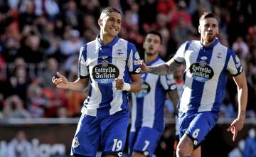
[[[199,82],[206,82],[214,75],[213,69],[207,65],[205,60],[201,60],[199,63],[193,63],[191,67],[189,67],[189,71],[193,79]]]

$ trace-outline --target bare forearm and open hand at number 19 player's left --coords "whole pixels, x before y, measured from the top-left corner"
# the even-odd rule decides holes
[[[57,88],[67,89],[67,90],[78,90],[84,92],[89,82],[89,77],[79,78],[74,82],[69,82],[67,78],[57,72],[58,77],[53,76],[52,82]]]

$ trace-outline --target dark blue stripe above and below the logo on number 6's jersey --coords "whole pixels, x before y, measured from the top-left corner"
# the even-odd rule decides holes
[[[201,61],[201,58],[203,56],[206,56],[207,59],[205,61],[209,65],[212,55],[213,55],[213,48],[206,48],[203,46],[198,53],[196,62],[199,63]],[[191,102],[189,103],[191,105],[191,110],[198,112],[198,107],[201,105],[204,85],[205,85],[205,82],[199,82],[197,80],[193,80],[192,87],[191,87],[191,89],[193,89],[191,93]]]

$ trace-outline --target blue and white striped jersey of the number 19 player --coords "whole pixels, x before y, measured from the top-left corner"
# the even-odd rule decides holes
[[[78,75],[90,75],[87,99],[82,113],[90,116],[106,116],[129,109],[128,92],[115,90],[114,79],[131,82],[131,74],[139,74],[141,60],[132,43],[117,36],[108,45],[102,45],[100,36],[80,49]]]

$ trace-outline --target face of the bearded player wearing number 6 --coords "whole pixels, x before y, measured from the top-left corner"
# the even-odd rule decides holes
[[[206,18],[200,21],[198,27],[203,43],[213,43],[219,33],[218,21],[215,18]]]

